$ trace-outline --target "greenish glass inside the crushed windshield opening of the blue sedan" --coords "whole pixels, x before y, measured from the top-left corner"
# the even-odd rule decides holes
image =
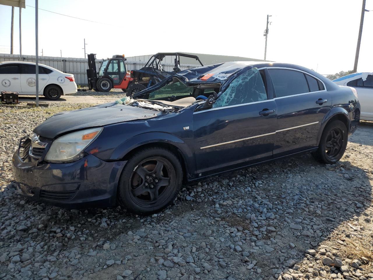
[[[193,87],[187,87],[185,84],[171,81],[169,84],[166,84],[164,87],[149,93],[149,100],[173,100],[181,99],[184,97],[192,96]]]

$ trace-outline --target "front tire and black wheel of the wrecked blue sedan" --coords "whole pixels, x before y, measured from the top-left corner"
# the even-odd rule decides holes
[[[181,182],[181,164],[170,150],[146,148],[132,155],[123,168],[117,199],[132,213],[152,214],[173,202]]]

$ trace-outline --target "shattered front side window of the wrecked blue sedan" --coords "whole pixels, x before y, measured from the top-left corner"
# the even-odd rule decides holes
[[[263,78],[257,68],[249,69],[236,77],[220,94],[213,108],[267,100]]]

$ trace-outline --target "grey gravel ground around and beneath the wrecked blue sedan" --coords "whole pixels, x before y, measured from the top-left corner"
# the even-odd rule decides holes
[[[373,123],[338,164],[303,155],[228,172],[183,186],[150,217],[19,196],[18,139],[84,106],[0,108],[0,279],[373,279]]]

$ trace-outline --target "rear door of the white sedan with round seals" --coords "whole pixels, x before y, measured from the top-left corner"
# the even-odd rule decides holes
[[[39,93],[43,92],[49,81],[49,69],[39,66]],[[57,81],[57,77],[56,77]],[[22,93],[36,94],[36,68],[33,64],[21,64],[21,88]]]

